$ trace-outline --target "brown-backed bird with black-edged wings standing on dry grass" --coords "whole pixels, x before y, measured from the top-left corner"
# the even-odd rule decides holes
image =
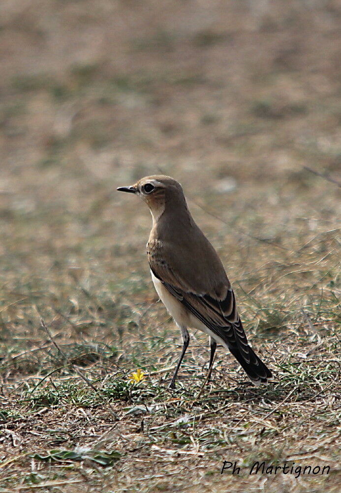
[[[211,379],[217,343],[229,350],[255,386],[267,384],[272,372],[248,344],[236,299],[215,248],[195,223],[181,184],[170,176],[153,175],[117,188],[133,193],[149,207],[152,230],[147,256],[155,290],[181,330],[183,347],[169,387],[189,344],[187,328],[209,336]]]

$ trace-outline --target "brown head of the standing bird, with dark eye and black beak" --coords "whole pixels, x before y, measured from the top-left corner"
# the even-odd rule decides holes
[[[170,176],[145,176],[134,185],[119,187],[118,190],[138,195],[148,205],[155,221],[166,207],[174,207],[178,203],[186,205],[182,186]]]

